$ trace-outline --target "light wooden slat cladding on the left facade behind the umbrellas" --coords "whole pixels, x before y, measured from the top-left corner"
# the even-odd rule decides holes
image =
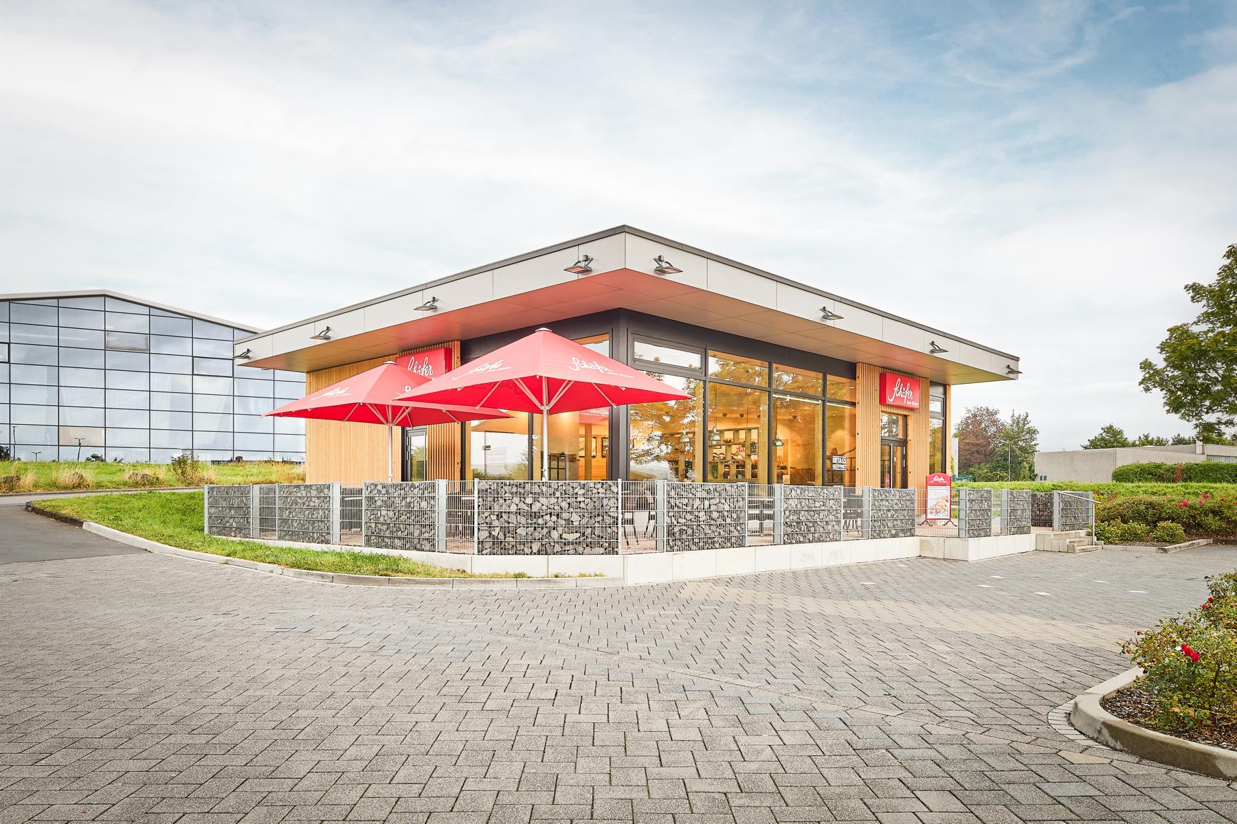
[[[403,350],[383,357],[345,363],[343,366],[318,369],[306,373],[306,394],[317,392],[366,369],[381,366],[401,355],[427,352],[439,347],[450,347],[452,368],[459,366],[459,341],[421,346]],[[360,483],[362,481],[386,481],[387,478],[387,430],[375,424],[349,424],[334,420],[306,420],[306,482]],[[458,478],[460,472],[459,424],[438,424],[429,427],[429,446],[427,456],[427,474],[430,478]],[[402,479],[403,442],[398,427],[392,432],[391,445],[395,451],[395,477]]]

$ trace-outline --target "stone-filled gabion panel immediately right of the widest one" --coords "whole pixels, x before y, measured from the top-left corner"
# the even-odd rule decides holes
[[[741,483],[666,484],[666,550],[722,550],[747,544],[747,494]]]

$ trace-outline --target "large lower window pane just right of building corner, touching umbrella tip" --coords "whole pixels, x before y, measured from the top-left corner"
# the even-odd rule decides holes
[[[698,481],[696,447],[704,437],[704,380],[649,372],[691,395],[685,400],[631,406],[632,481]]]

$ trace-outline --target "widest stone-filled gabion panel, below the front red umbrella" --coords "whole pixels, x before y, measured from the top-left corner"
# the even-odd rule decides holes
[[[479,555],[617,555],[617,481],[477,481]]]

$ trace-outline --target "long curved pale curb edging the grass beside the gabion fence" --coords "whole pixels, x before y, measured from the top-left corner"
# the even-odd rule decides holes
[[[354,587],[437,587],[437,588],[449,588],[449,589],[523,589],[523,588],[544,588],[544,589],[574,589],[576,587],[621,587],[627,586],[621,578],[414,578],[403,576],[362,576],[353,574],[346,572],[323,572],[320,570],[292,570],[289,567],[281,567],[275,563],[265,563],[262,561],[250,561],[247,558],[233,558],[225,555],[212,555],[210,552],[198,552],[195,550],[183,550],[178,546],[168,546],[167,544],[160,544],[158,541],[151,541],[150,539],[139,537],[137,535],[130,535],[129,532],[122,532],[118,529],[111,529],[110,526],[104,526],[103,524],[95,524],[94,521],[83,521],[72,515],[63,515],[61,513],[52,511],[51,509],[45,509],[35,503],[26,504],[26,511],[35,515],[42,515],[43,518],[49,518],[72,526],[77,526],[87,532],[99,535],[100,537],[106,537],[109,540],[116,541],[118,544],[125,544],[127,546],[136,547],[139,550],[145,550],[156,555],[174,555],[182,558],[189,558],[192,561],[203,561],[207,563],[214,563],[216,566],[233,566],[241,567],[244,570],[252,570],[255,572],[263,572],[266,574],[283,576],[286,578],[298,578],[301,581],[317,581],[320,583],[338,583]],[[586,583],[585,583],[586,582]]]

